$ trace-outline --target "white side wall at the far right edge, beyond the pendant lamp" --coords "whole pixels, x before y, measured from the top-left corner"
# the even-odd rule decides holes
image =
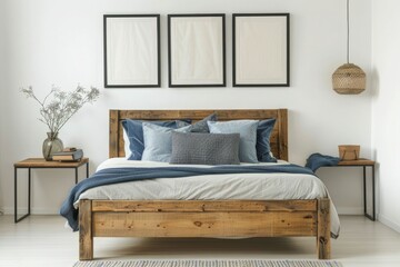
[[[372,146],[379,162],[379,220],[400,231],[400,2],[373,0],[372,7]]]

